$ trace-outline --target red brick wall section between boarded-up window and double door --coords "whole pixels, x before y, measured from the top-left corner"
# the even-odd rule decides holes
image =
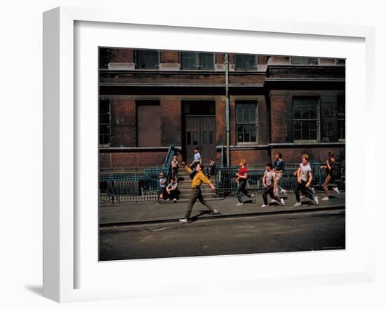
[[[162,146],[182,145],[181,101],[170,100],[160,102]]]

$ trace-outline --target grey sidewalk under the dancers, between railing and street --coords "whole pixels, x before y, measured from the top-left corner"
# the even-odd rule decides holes
[[[278,213],[297,213],[311,210],[333,210],[345,208],[345,193],[341,195],[331,193],[329,201],[322,201],[322,193],[317,193],[319,205],[313,205],[307,198],[302,199],[302,206],[294,207],[295,196],[288,194],[285,199],[286,206],[280,203],[270,203],[268,207],[262,208],[262,196],[257,195],[256,203],[247,202],[243,206],[235,206],[238,202],[236,198],[226,198],[218,201],[209,201],[211,206],[216,208],[220,214],[211,215],[209,210],[199,201],[195,203],[191,219],[207,220],[221,219],[228,217],[246,217],[253,215],[272,215]],[[246,196],[242,199],[246,201]],[[269,197],[267,198],[268,200]],[[186,213],[188,202],[177,203],[158,203],[146,202],[136,204],[117,204],[116,206],[100,206],[99,220],[100,227],[114,227],[118,225],[146,224],[160,222],[177,222]]]

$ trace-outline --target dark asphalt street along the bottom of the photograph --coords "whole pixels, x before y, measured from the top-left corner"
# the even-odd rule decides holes
[[[100,229],[99,260],[345,248],[345,210],[167,222]]]

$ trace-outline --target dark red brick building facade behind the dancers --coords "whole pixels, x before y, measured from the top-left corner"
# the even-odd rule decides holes
[[[169,145],[230,165],[344,159],[344,59],[99,49],[102,171],[160,166]],[[228,71],[228,73],[226,73]],[[228,76],[228,78],[227,78]],[[228,80],[228,82],[226,82]],[[226,89],[227,88],[227,89]],[[228,102],[228,103],[227,103]],[[227,105],[228,104],[228,118]]]

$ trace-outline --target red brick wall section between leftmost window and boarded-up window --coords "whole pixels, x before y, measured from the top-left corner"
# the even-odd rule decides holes
[[[111,103],[111,146],[137,145],[135,101]]]

